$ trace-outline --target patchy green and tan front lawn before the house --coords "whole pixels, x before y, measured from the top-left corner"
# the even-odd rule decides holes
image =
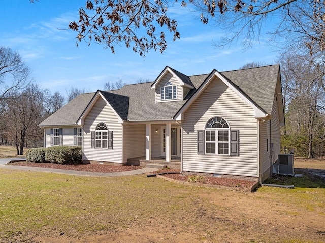
[[[0,169],[0,185],[0,242],[32,242],[37,235],[79,237],[137,227],[179,229],[184,235],[198,237],[182,242],[216,242],[218,234],[253,237],[256,242],[320,242],[311,232],[290,235],[286,229],[282,235],[279,230],[272,232],[271,226],[287,224],[278,221],[285,217],[297,216],[306,222],[313,215],[325,217],[321,215],[325,189],[320,188],[262,187],[244,193],[189,187],[143,175],[75,177],[9,169]],[[266,205],[286,206],[276,211],[280,219],[275,222],[270,215],[265,225],[268,235],[256,230],[263,226],[261,217],[268,217],[264,215]],[[264,210],[251,211],[252,206]],[[299,241],[300,237],[307,239]]]

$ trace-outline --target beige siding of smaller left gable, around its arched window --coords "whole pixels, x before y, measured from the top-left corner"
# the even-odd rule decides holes
[[[113,149],[91,148],[91,131],[95,131],[99,123],[105,123],[108,131],[113,131]],[[122,125],[118,117],[106,102],[99,98],[85,117],[83,128],[83,159],[122,163]]]

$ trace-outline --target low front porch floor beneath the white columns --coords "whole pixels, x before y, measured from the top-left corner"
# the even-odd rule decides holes
[[[145,156],[127,159],[127,165],[147,167],[148,164],[163,165],[163,166],[169,167],[171,169],[177,169],[177,170],[181,169],[180,157],[172,156],[172,159],[170,162],[166,162],[166,157],[151,157],[150,160],[146,160]]]

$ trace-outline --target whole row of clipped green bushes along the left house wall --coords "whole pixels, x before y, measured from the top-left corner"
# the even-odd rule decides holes
[[[81,146],[55,146],[34,148],[26,153],[28,162],[48,162],[58,164],[78,164],[82,161]]]

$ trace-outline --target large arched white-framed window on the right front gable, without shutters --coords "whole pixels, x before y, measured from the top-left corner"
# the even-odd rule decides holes
[[[221,117],[213,117],[205,126],[205,153],[229,155],[229,124]]]

